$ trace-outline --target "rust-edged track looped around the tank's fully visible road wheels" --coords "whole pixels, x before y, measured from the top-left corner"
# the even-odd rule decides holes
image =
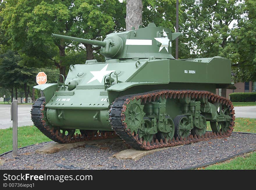
[[[142,138],[139,140],[138,135],[134,132],[131,132],[130,129],[127,129],[127,123],[125,122],[125,111],[126,111],[126,105],[130,103],[130,100],[134,100],[135,98],[138,100],[140,99],[141,102],[151,102],[155,101],[157,98],[183,98],[183,97],[192,97],[192,98],[200,98],[202,96],[205,96],[208,98],[208,101],[211,103],[214,102],[220,102],[221,104],[225,104],[229,110],[230,110],[230,125],[227,132],[220,132],[220,133],[214,133],[214,132],[206,132],[205,135],[197,137],[196,135],[190,135],[186,138],[179,139],[178,137],[172,140],[165,139],[164,141],[161,139],[160,142],[157,139],[153,139],[151,142],[148,142],[146,140],[142,140]],[[224,97],[221,97],[219,95],[216,95],[214,93],[210,93],[208,91],[191,91],[191,90],[159,90],[159,91],[152,91],[147,93],[141,93],[141,94],[133,94],[133,95],[125,95],[121,96],[115,99],[113,104],[110,108],[110,121],[111,126],[114,129],[114,131],[122,138],[123,141],[125,141],[129,146],[131,146],[134,149],[140,149],[140,150],[150,150],[150,149],[156,149],[161,147],[168,147],[168,146],[175,146],[179,144],[189,144],[192,142],[199,142],[204,140],[210,140],[210,139],[216,139],[216,138],[222,138],[222,137],[229,137],[233,131],[234,127],[234,106],[232,105],[232,102]]]

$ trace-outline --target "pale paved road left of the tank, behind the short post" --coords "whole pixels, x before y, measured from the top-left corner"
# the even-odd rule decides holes
[[[18,126],[33,125],[30,110],[32,105],[18,105]],[[11,105],[0,104],[0,129],[13,126],[11,121]]]

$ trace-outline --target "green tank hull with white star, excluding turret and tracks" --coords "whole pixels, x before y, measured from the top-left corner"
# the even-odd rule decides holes
[[[67,75],[65,87],[58,85],[60,87],[45,105],[49,124],[63,129],[113,131],[109,123],[109,109],[116,97],[161,89],[215,93],[216,86],[231,81],[230,76],[222,73],[221,76],[212,77],[215,72],[213,66],[222,65],[225,70],[230,67],[230,62],[222,58],[207,58],[200,62],[196,59],[128,59],[112,62],[74,65]],[[112,76],[112,85],[106,85],[104,76],[99,82],[100,76],[95,72],[98,74],[102,69],[103,73],[108,72]],[[117,70],[118,78],[114,73]],[[98,78],[94,79],[95,76]],[[70,81],[77,82],[71,90],[68,86]],[[175,109],[180,112],[181,108]]]

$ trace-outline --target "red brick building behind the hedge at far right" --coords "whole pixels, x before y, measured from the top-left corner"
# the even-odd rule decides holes
[[[229,94],[233,92],[255,92],[256,93],[256,82],[238,82],[234,84],[237,89],[227,89],[226,98],[229,99]],[[216,89],[216,94],[221,95],[221,90]]]

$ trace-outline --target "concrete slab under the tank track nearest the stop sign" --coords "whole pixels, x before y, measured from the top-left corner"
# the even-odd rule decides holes
[[[75,149],[81,146],[85,145],[95,145],[100,146],[105,144],[106,142],[113,142],[113,141],[120,141],[122,139],[120,138],[113,138],[113,139],[102,139],[102,140],[92,140],[92,141],[81,141],[81,142],[74,142],[74,143],[66,143],[66,144],[60,144],[57,142],[47,144],[40,149],[37,149],[35,153],[39,154],[52,154],[60,151],[65,151],[67,149]]]

